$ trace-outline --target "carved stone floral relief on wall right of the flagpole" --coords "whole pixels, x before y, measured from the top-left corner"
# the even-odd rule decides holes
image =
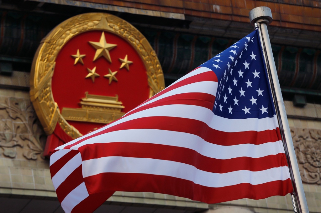
[[[291,128],[302,181],[321,184],[321,130]]]

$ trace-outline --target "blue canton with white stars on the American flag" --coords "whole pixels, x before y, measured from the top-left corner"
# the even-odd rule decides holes
[[[201,66],[213,70],[218,79],[215,115],[230,119],[273,117],[275,108],[258,30]]]

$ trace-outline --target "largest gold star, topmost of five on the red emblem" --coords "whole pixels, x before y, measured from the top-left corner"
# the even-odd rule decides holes
[[[91,46],[93,46],[96,49],[95,57],[92,61],[95,61],[96,59],[103,56],[105,59],[107,59],[111,63],[109,50],[116,47],[117,44],[107,43],[104,32],[102,32],[99,42],[89,42],[89,43],[91,44]]]

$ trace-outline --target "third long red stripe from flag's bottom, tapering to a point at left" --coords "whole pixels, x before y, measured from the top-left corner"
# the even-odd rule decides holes
[[[82,141],[95,136],[117,131],[132,129],[158,129],[177,132],[186,132],[203,138],[205,141],[222,146],[231,146],[238,144],[264,144],[281,140],[280,130],[277,127],[274,130],[264,131],[243,131],[243,132],[223,132],[210,128],[206,123],[198,120],[178,117],[154,116],[144,117],[123,122],[119,125],[112,126],[106,130],[102,130],[91,136],[82,138],[81,140],[66,146],[68,149]]]

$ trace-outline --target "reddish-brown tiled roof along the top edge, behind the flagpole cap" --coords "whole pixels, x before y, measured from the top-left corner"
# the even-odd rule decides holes
[[[272,26],[321,31],[321,2],[317,0],[77,0],[189,16],[249,22],[255,7],[271,8]]]

